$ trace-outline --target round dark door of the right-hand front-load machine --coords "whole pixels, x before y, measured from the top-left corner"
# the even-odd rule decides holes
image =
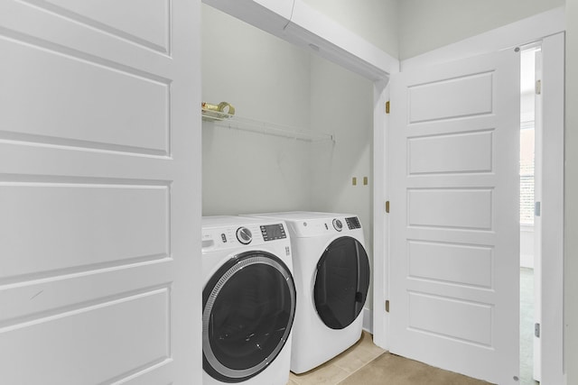
[[[361,243],[337,238],[317,262],[313,298],[317,314],[331,329],[343,329],[359,316],[368,297],[369,260]]]

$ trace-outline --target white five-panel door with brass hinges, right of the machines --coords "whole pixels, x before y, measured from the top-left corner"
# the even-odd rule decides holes
[[[517,383],[519,53],[392,77],[390,348]]]

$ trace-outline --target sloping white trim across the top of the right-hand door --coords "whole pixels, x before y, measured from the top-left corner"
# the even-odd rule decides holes
[[[495,30],[431,50],[414,58],[402,60],[401,70],[420,69],[426,65],[460,60],[484,53],[504,50],[542,40],[545,36],[564,32],[564,7],[554,8],[542,14],[511,23]]]

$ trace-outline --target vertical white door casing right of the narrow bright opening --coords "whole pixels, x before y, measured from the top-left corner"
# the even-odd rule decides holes
[[[542,41],[542,383],[564,384],[564,33]],[[547,187],[547,188],[546,188]]]

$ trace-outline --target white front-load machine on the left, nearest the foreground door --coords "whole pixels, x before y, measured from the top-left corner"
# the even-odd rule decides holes
[[[296,294],[280,219],[202,218],[203,384],[285,385]]]

